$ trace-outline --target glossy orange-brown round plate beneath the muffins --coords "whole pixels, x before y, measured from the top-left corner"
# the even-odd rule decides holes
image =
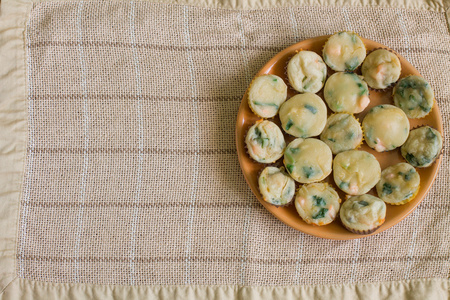
[[[277,55],[275,55],[274,58],[272,58],[259,72],[256,76],[263,75],[263,74],[275,74],[280,76],[284,79],[285,83],[288,84],[288,79],[286,76],[285,68],[287,66],[287,63],[289,62],[290,58],[294,56],[299,50],[310,50],[314,51],[320,56],[322,56],[322,47],[329,36],[320,36],[308,40],[304,40],[298,44],[292,45],[289,48],[286,48],[285,50],[281,51]],[[366,48],[368,51],[371,51],[376,48],[385,48],[388,49],[386,46],[381,45],[377,42],[362,39],[364,44],[366,45]],[[398,55],[398,54],[397,54]],[[402,73],[401,78],[405,77],[407,75],[420,75],[419,72],[408,62],[406,59],[398,55],[400,58],[400,62],[402,64]],[[328,69],[328,76],[334,73],[330,69]],[[357,70],[357,73],[360,73],[359,70]],[[288,84],[289,86],[289,84]],[[265,202],[261,196],[261,193],[259,192],[258,188],[258,175],[259,173],[267,166],[266,164],[257,163],[253,159],[250,158],[250,156],[247,154],[247,150],[245,148],[245,135],[250,128],[257,120],[261,119],[260,117],[256,116],[252,113],[248,106],[248,99],[247,99],[247,92],[244,95],[244,98],[242,99],[241,105],[239,107],[239,112],[237,116],[237,124],[236,124],[236,144],[237,144],[237,153],[239,157],[239,163],[241,165],[242,172],[244,173],[245,179],[247,180],[248,185],[252,189],[253,193],[256,195],[258,200],[261,202],[264,207],[268,211],[270,211],[275,217],[277,217],[279,220],[284,222],[286,225],[297,229],[301,232],[327,238],[327,239],[335,239],[335,240],[349,240],[349,239],[357,239],[373,234],[380,233],[401,220],[403,220],[406,216],[408,216],[416,207],[419,205],[419,203],[424,199],[426,196],[428,190],[430,189],[431,185],[434,182],[434,179],[436,177],[436,174],[438,172],[439,166],[441,164],[441,157],[436,160],[436,162],[431,165],[428,168],[417,168],[417,171],[420,174],[420,190],[417,196],[409,203],[405,205],[400,206],[392,206],[387,205],[387,212],[386,212],[386,221],[384,224],[378,228],[375,232],[369,234],[369,235],[359,235],[354,234],[352,232],[347,231],[344,227],[342,227],[340,220],[338,218],[332,222],[329,225],[326,226],[315,226],[305,223],[300,216],[298,215],[295,206],[293,204],[289,206],[284,207],[277,207],[274,205],[271,205],[267,202]],[[288,89],[288,99],[295,94],[298,94],[294,89],[289,87]],[[359,118],[360,121],[364,119],[364,116],[366,113],[370,110],[371,107],[379,105],[379,104],[392,104],[392,87],[384,90],[384,91],[370,91],[370,99],[371,102],[369,106],[360,114],[356,114],[356,118]],[[318,93],[319,96],[323,99],[323,92],[322,90]],[[328,110],[328,114],[331,114],[331,111]],[[275,116],[272,119],[269,119],[276,124],[280,125],[280,120],[278,115]],[[439,113],[439,109],[437,107],[436,102],[434,103],[433,109],[430,114],[428,114],[423,119],[409,119],[410,127],[415,128],[422,125],[429,125],[435,129],[437,129],[441,134],[443,132],[442,130],[442,119],[441,115]],[[286,143],[289,143],[294,139],[294,137],[286,134],[283,132]],[[375,150],[369,148],[367,144],[363,144],[359,150],[364,150],[369,153],[372,153],[375,155],[375,157],[378,159],[381,165],[381,169],[385,169],[386,167],[399,163],[404,162],[405,160],[402,158],[400,154],[400,148],[397,148],[393,151],[378,153]],[[283,158],[278,160],[275,164],[272,165],[283,165]],[[339,193],[341,199],[345,199],[345,194],[336,187],[334,184],[332,174],[328,176],[325,181],[331,184],[336,191]],[[370,194],[376,195],[375,188],[373,188],[370,192]]]

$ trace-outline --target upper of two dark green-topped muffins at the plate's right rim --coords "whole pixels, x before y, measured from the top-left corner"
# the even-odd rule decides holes
[[[400,79],[392,93],[395,105],[400,107],[408,118],[423,118],[433,108],[433,89],[420,76],[411,75]]]

